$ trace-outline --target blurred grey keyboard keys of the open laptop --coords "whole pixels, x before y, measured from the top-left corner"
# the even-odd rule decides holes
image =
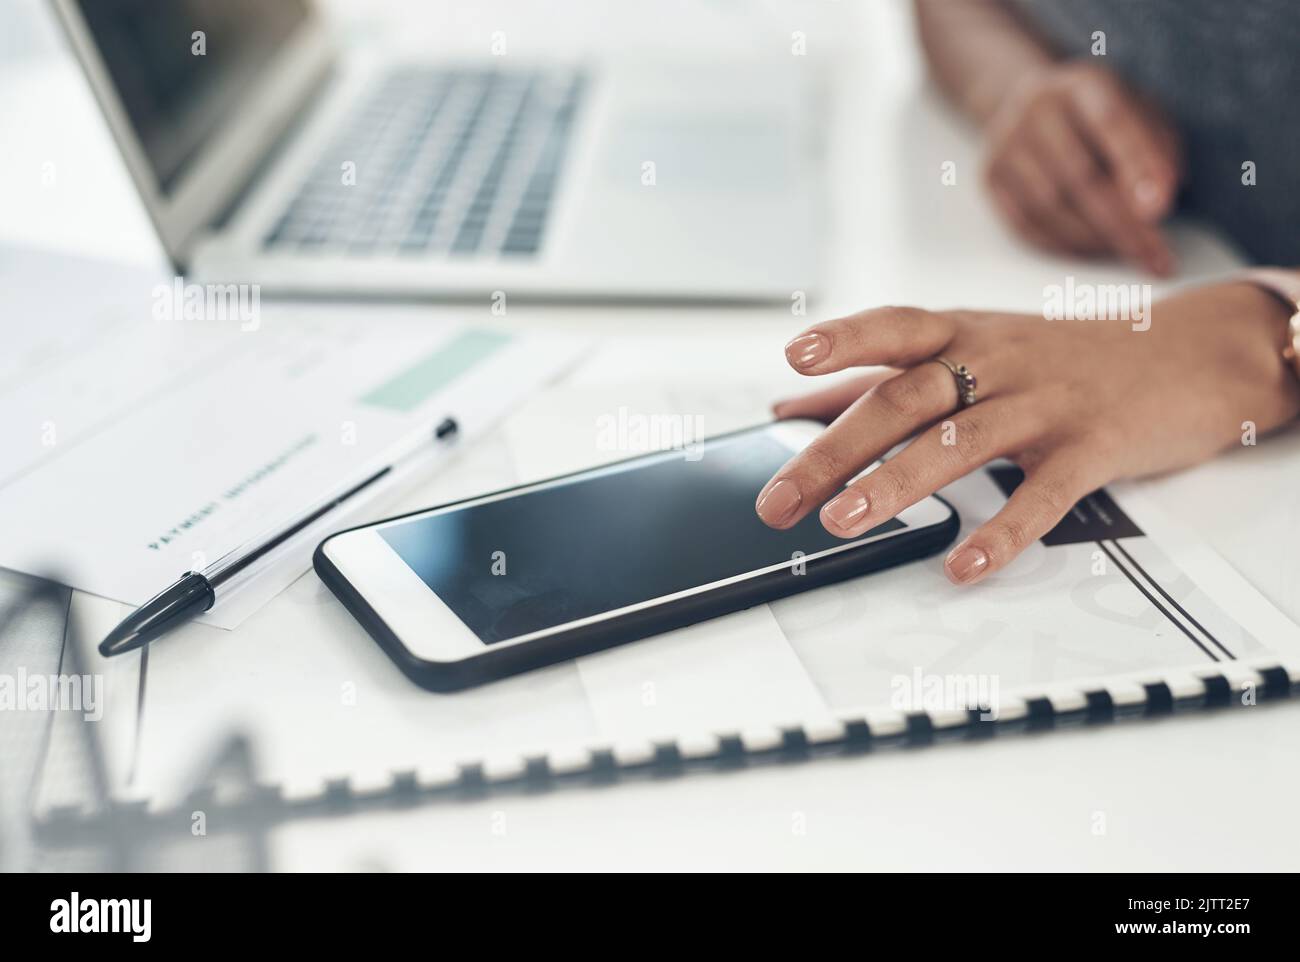
[[[584,84],[573,70],[394,70],[312,168],[265,246],[537,255]]]

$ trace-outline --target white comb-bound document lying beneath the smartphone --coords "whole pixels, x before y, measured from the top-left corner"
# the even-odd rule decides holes
[[[968,530],[1018,482],[994,465],[945,497]],[[1300,685],[1300,629],[1132,488],[1086,498],[976,590],[920,562],[452,696],[410,685],[335,604],[307,576],[218,644],[157,646],[134,728],[87,740],[91,725],[56,716],[52,760],[130,744],[87,763],[110,770],[101,792],[40,786],[43,837],[109,823],[118,838],[174,836],[214,810],[261,832],[464,793],[1254,707]]]

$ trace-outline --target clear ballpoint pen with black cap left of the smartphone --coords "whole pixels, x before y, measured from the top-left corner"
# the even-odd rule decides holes
[[[445,417],[434,428],[433,438],[434,441],[450,441],[458,434],[459,429],[454,417]],[[334,508],[393,474],[396,467],[398,464],[394,463],[380,468],[364,481],[352,485],[342,494],[296,517],[274,534],[218,558],[202,572],[191,571],[182,575],[179,581],[150,598],[144,604],[127,615],[117,628],[110,630],[108,637],[99,644],[99,653],[107,658],[134,651],[160,634],[188,621],[195,615],[207,611],[216,603],[217,588],[220,585],[224,585],[255,562],[265,558],[295,534],[325,517]]]

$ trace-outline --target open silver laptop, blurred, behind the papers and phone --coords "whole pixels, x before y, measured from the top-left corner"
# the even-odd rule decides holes
[[[52,0],[177,269],[270,292],[789,300],[794,70],[341,57],[308,0]]]

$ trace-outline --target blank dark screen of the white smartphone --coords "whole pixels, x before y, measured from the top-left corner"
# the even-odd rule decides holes
[[[491,645],[842,547],[816,511],[789,530],[754,514],[789,456],[751,432],[380,533]]]

